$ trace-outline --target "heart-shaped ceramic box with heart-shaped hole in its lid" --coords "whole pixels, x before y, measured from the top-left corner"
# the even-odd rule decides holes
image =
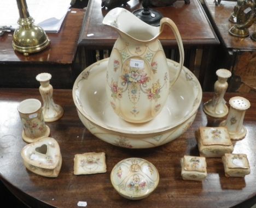
[[[54,138],[45,137],[27,144],[21,150],[21,157],[28,170],[46,177],[57,177],[62,157],[60,146]]]

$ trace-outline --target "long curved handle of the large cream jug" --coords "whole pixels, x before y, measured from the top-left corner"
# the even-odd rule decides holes
[[[173,34],[174,34],[174,36],[177,40],[178,47],[179,47],[179,69],[176,72],[175,77],[172,79],[172,81],[170,81],[170,89],[171,89],[172,85],[177,81],[177,79],[179,77],[179,74],[181,74],[181,70],[183,68],[184,48],[183,48],[181,34],[179,34],[179,30],[178,30],[177,26],[175,25],[175,23],[171,19],[169,19],[168,17],[163,17],[160,21],[160,33],[164,29],[165,25],[169,26],[172,29],[172,32],[173,32]]]

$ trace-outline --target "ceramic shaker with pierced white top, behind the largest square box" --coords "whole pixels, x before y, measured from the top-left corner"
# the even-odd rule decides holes
[[[243,126],[243,118],[246,110],[250,107],[250,102],[244,97],[232,97],[229,100],[230,109],[228,118],[219,126],[226,126],[229,136],[233,140],[243,139],[246,136],[246,128]]]

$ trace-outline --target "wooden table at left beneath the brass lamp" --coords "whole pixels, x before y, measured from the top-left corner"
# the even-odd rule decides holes
[[[27,57],[14,52],[13,32],[0,36],[0,87],[37,88],[36,75],[49,72],[54,88],[72,88],[77,74],[74,60],[84,14],[83,9],[68,11],[59,33],[47,33],[50,47]]]

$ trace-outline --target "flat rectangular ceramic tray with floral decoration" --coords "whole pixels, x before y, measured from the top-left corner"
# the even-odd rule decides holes
[[[104,152],[86,152],[74,157],[74,174],[106,173],[106,157]]]

